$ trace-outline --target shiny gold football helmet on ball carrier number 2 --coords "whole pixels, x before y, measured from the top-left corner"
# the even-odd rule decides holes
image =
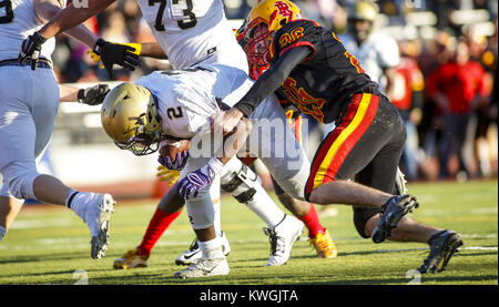
[[[125,82],[111,90],[102,103],[101,121],[105,133],[121,150],[135,155],[157,151],[161,117],[157,102],[147,89]]]

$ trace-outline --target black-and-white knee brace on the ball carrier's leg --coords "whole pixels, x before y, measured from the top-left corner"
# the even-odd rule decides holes
[[[222,191],[231,193],[237,202],[247,203],[253,199],[261,180],[249,167],[241,163],[238,171],[230,170],[221,177]]]

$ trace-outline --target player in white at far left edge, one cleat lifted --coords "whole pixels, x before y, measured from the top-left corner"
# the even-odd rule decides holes
[[[85,102],[89,91],[58,86],[51,63],[53,39],[38,52],[37,60],[26,59],[22,64],[18,60],[22,41],[64,3],[58,0],[3,0],[1,4],[4,10],[0,12],[0,173],[3,177],[0,239],[19,212],[18,205],[9,204],[9,197],[34,198],[65,205],[80,216],[90,228],[91,256],[101,258],[109,243],[112,196],[68,187],[53,176],[38,173],[34,162],[52,135],[60,96],[77,101],[79,95]],[[71,29],[67,34],[89,45],[96,40],[84,27]],[[33,73],[30,66],[39,70]]]

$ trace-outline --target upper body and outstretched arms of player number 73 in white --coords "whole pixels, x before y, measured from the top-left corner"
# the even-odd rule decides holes
[[[142,44],[141,55],[161,58],[165,54],[173,69],[185,69],[197,63],[223,63],[247,72],[244,52],[237,45],[234,33],[223,10],[222,0],[136,0],[142,14],[150,25],[157,44]],[[105,9],[115,0],[89,1],[88,8],[77,3],[68,6],[61,13],[50,20],[34,35],[24,42],[21,60],[33,57],[34,50],[41,49],[48,38],[80,24],[91,16]],[[99,54],[103,47],[111,43],[99,41],[94,51]],[[114,44],[111,44],[114,45]],[[133,50],[133,49],[132,49]],[[122,59],[130,49],[112,55]],[[135,50],[136,52],[136,50]],[[35,55],[35,54],[34,54]],[[103,60],[108,71],[112,62],[122,64],[113,57]],[[130,69],[130,66],[128,66]]]

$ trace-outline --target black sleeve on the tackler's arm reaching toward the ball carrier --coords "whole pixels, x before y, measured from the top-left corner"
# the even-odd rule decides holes
[[[308,47],[296,47],[286,51],[279,60],[271,65],[253,84],[249,91],[234,106],[248,117],[256,106],[277,90],[293,69],[302,63],[312,50]]]

